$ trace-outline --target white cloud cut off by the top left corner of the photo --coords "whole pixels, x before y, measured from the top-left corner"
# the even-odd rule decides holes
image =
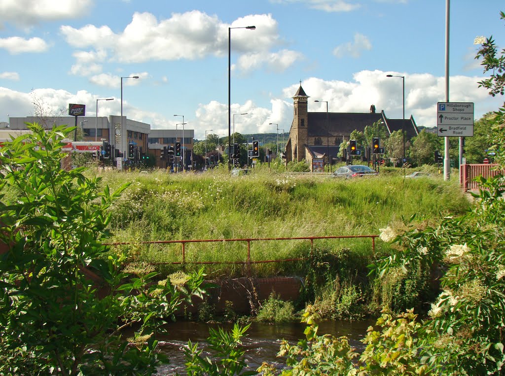
[[[92,0],[0,0],[0,25],[11,22],[30,27],[44,21],[79,18],[92,4]]]

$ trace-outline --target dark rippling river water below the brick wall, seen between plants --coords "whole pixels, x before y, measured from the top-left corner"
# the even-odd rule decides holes
[[[347,336],[349,344],[355,347],[358,352],[364,349],[364,344],[360,342],[367,334],[367,328],[375,324],[375,320],[345,321],[331,320],[319,323],[318,334],[332,334],[335,337]],[[159,349],[170,358],[170,364],[161,366],[158,369],[159,375],[174,375],[176,372],[186,374],[184,364],[184,354],[182,349],[187,346],[188,340],[194,344],[198,342],[199,348],[207,345],[209,328],[217,329],[233,328],[232,324],[202,324],[189,321],[177,321],[170,324],[168,334],[164,338],[159,338]],[[304,330],[306,325],[301,323],[291,324],[262,324],[252,323],[246,332],[246,337],[242,343],[247,350],[245,361],[249,369],[255,370],[264,361],[282,366],[282,362],[276,358],[280,343],[283,339],[295,344],[298,339],[305,338]]]

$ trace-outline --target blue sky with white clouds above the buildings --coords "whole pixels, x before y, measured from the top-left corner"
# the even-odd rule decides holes
[[[503,104],[477,82],[476,37],[505,47],[502,0],[452,0],[449,100],[475,119]],[[255,30],[245,29],[256,26]],[[228,135],[289,132],[298,86],[310,112],[384,110],[436,127],[446,100],[444,0],[0,0],[0,122],[35,114],[121,114],[151,129],[182,123]],[[489,75],[489,74],[487,74]],[[138,79],[123,78],[138,76]],[[315,102],[319,100],[321,102]],[[273,123],[273,124],[269,124]],[[180,129],[180,125],[178,126]]]

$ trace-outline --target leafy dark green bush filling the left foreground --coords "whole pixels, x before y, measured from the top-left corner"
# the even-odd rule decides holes
[[[203,273],[176,287],[148,264],[124,268],[103,245],[115,192],[61,168],[75,127],[4,142],[0,160],[0,374],[152,374],[155,334]],[[131,338],[125,328],[135,331]]]

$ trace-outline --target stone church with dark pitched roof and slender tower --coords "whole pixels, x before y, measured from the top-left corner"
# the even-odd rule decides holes
[[[379,120],[388,134],[402,129],[403,119],[388,119],[383,110],[375,112],[373,104],[366,113],[308,112],[309,98],[300,84],[293,96],[293,122],[286,142],[286,162],[305,159],[311,171],[324,171],[329,160],[334,164],[340,143],[349,140],[354,130],[364,132],[366,126]],[[406,141],[418,134],[414,118],[405,119]]]

